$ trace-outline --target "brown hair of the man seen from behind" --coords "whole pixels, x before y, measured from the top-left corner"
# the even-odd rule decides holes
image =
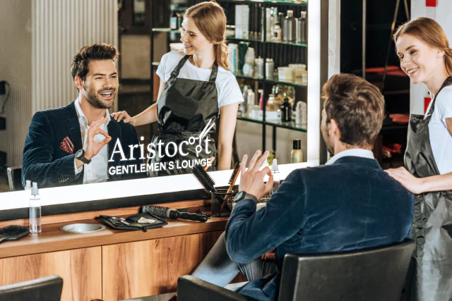
[[[340,141],[353,146],[372,146],[384,117],[384,99],[379,89],[352,74],[336,74],[322,89],[326,123],[334,119]]]

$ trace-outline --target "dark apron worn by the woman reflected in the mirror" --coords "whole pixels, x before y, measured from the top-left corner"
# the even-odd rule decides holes
[[[214,63],[208,82],[177,78],[189,57],[184,56],[174,68],[157,102],[159,131],[151,143],[158,150],[157,144],[160,142],[161,149],[167,149],[168,152],[162,156],[155,152],[153,159],[148,160],[151,166],[159,166],[148,171],[150,177],[190,173],[196,162],[203,159],[210,161],[212,156],[217,158],[215,141],[210,135],[215,133],[215,121],[218,118],[218,92],[215,85],[218,64]],[[207,132],[203,133],[204,130]],[[216,170],[217,161],[214,161],[213,170]]]

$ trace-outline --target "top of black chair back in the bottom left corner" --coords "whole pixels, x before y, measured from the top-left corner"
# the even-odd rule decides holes
[[[60,301],[63,279],[53,275],[0,287],[0,300]]]

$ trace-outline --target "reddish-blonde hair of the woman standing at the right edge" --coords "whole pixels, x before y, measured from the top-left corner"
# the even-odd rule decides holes
[[[446,72],[452,75],[452,49],[441,25],[430,18],[417,18],[408,23],[400,25],[394,35],[394,42],[401,35],[411,35],[430,47],[434,47],[444,51],[444,63],[446,64]]]

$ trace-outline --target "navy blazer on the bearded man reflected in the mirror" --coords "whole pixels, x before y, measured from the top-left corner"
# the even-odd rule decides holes
[[[138,145],[138,136],[133,125],[117,122],[111,118],[107,125],[108,135],[112,140],[108,143],[108,159],[112,157],[117,139],[127,159],[130,158],[129,145]],[[65,137],[73,142],[74,154],[60,149],[60,143]],[[82,149],[80,123],[74,102],[58,109],[49,109],[35,113],[25,138],[22,158],[22,184],[25,180],[37,182],[39,188],[83,184],[83,173],[76,176],[74,168],[75,153]],[[140,160],[139,147],[133,149],[134,160],[119,161],[121,154],[115,153],[111,166],[134,165],[143,163]],[[85,168],[85,166],[83,166]],[[145,174],[129,173],[110,175],[110,180],[128,180],[141,178]]]

